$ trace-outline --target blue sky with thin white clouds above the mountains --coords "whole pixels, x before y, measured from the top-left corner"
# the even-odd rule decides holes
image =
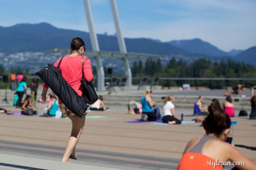
[[[109,0],[90,0],[97,34],[115,33]],[[200,38],[224,51],[256,46],[256,0],[116,0],[125,38]],[[0,0],[0,26],[47,22],[88,32],[83,0]]]

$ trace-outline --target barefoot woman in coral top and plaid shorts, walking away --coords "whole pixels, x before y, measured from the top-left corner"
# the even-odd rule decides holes
[[[85,44],[81,38],[74,38],[71,42],[71,54],[64,56],[62,59],[62,63],[60,65],[60,72],[62,73],[63,78],[67,81],[67,83],[75,90],[75,92],[81,96],[83,91],[83,85],[81,84],[82,79],[82,71],[84,72],[84,78],[86,81],[93,80],[93,71],[90,60],[87,59],[84,68],[82,70],[82,55],[85,51]],[[86,57],[83,56],[83,59]],[[61,58],[59,58],[54,66],[57,67]],[[40,97],[40,102],[45,103],[46,101],[46,93],[48,90],[48,86],[44,84],[44,89]],[[72,130],[71,136],[67,140],[66,149],[64,155],[62,157],[62,162],[69,162],[68,158],[77,159],[75,154],[75,146],[79,141],[79,137],[83,131],[84,123],[85,123],[85,115],[87,111],[84,113],[82,118],[76,116],[71,110],[69,110],[64,103],[59,99],[58,100],[59,107],[62,110],[63,117],[68,117],[72,122]]]

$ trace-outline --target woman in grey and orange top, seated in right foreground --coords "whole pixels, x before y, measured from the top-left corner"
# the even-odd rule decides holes
[[[230,132],[231,120],[221,108],[214,108],[203,120],[205,135],[189,141],[177,170],[222,170],[216,161],[244,162],[236,165],[240,170],[256,170],[256,164],[238,149],[225,142]],[[212,162],[212,165],[209,164]],[[213,166],[216,162],[217,165]]]

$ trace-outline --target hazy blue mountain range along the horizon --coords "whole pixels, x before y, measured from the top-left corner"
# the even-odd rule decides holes
[[[81,37],[88,50],[92,50],[88,32],[56,28],[48,23],[0,26],[0,52],[42,52],[53,48],[69,48],[72,38]],[[97,34],[101,51],[119,51],[115,35]],[[128,52],[155,55],[182,55],[191,59],[233,59],[256,65],[256,47],[245,51],[221,51],[199,38],[161,42],[150,38],[124,38]]]

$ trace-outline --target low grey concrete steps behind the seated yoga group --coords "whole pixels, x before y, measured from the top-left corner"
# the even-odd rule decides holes
[[[40,94],[42,92],[42,88],[38,89],[38,95],[37,95],[37,99],[39,100],[40,98]],[[7,95],[7,100],[9,102],[6,103],[4,101],[5,98],[5,93]],[[13,96],[14,91],[11,91],[10,89],[0,89],[0,102],[1,102],[1,106],[12,106],[13,103]],[[31,91],[30,89],[27,89],[27,94],[30,94]],[[49,92],[50,93],[50,90]],[[99,93],[100,94],[100,93]],[[107,94],[105,92],[106,95],[103,96],[104,98],[104,102],[106,104],[106,106],[124,106],[127,107],[129,101],[134,100],[136,102],[140,103],[141,100],[141,96],[143,95],[143,93],[138,92],[138,94],[122,94],[122,93],[111,93],[111,94]],[[23,96],[22,100],[24,100],[26,97],[26,95]],[[152,100],[155,101],[155,104],[157,107],[162,108],[163,107],[163,99],[165,96],[163,95],[152,95]],[[211,97],[211,96],[205,96],[204,100],[203,100],[203,106],[208,106],[211,104],[212,99],[215,97]],[[220,96],[220,97],[216,97],[220,104],[222,105],[223,102],[225,102],[225,97],[224,96]],[[177,109],[190,109],[190,110],[194,110],[194,102],[198,99],[198,96],[184,96],[184,95],[175,95],[175,102],[174,105]],[[251,104],[250,104],[250,99],[249,98],[232,98],[234,103],[235,103],[235,107],[234,110],[236,113],[239,112],[239,110],[241,109],[245,109],[247,110],[247,112],[251,112]],[[236,101],[235,101],[236,99]]]

